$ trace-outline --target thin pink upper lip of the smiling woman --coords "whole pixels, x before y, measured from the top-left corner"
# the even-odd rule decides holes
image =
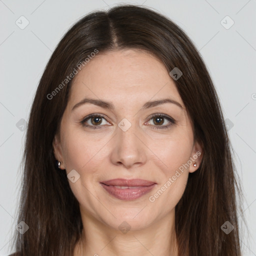
[[[153,181],[145,180],[145,179],[124,179],[124,178],[114,178],[109,180],[101,181],[105,185],[114,185],[114,186],[150,186],[155,184]]]

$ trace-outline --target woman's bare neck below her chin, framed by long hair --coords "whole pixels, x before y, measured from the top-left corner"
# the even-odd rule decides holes
[[[74,256],[177,256],[174,210],[142,229],[113,229],[93,217],[82,217],[82,237]]]

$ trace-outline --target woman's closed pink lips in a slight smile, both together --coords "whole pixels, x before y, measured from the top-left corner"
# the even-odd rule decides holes
[[[110,179],[100,182],[112,196],[121,200],[134,200],[148,193],[156,183],[144,179]]]

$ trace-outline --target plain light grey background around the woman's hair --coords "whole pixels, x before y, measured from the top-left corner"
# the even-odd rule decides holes
[[[108,9],[114,0],[0,0],[0,255],[7,255],[15,230],[20,161],[31,102],[56,44],[81,16]],[[185,30],[205,61],[216,86],[242,181],[243,210],[250,235],[241,236],[243,255],[256,255],[256,0],[139,0],[170,17]],[[23,15],[29,24],[20,29]],[[226,16],[234,24],[226,29]],[[222,22],[228,26],[230,20]],[[20,24],[21,25],[21,24]],[[20,121],[22,122],[22,121]],[[36,171],[36,170],[35,170]],[[198,216],[200,217],[200,216]],[[240,221],[240,217],[239,217]],[[244,228],[243,228],[244,229]],[[246,230],[245,230],[246,231]]]

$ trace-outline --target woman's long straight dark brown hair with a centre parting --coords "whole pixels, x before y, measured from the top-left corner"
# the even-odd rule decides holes
[[[29,229],[24,234],[15,232],[15,250],[21,256],[72,255],[81,235],[81,216],[65,172],[55,166],[52,148],[72,79],[63,81],[95,49],[101,54],[125,48],[150,52],[168,72],[174,67],[182,71],[173,82],[191,118],[194,138],[203,147],[202,162],[189,173],[175,207],[179,255],[240,256],[237,195],[241,191],[211,78],[180,27],[156,11],[135,5],[82,17],[60,40],[45,67],[28,121],[16,221],[24,221]],[[229,234],[221,228],[226,221],[234,226]]]

